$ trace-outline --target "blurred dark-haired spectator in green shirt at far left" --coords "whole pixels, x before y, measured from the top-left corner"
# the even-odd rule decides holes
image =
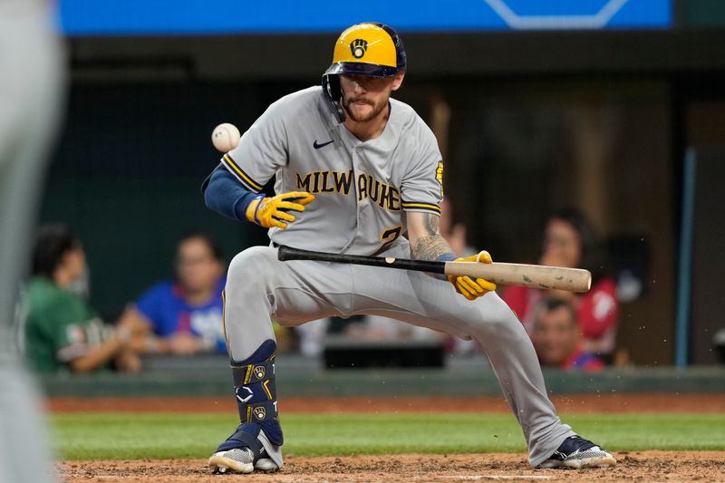
[[[133,327],[103,324],[72,287],[86,274],[81,240],[63,225],[41,227],[35,241],[33,277],[24,310],[24,349],[38,372],[92,372],[115,362],[138,372],[131,350]]]

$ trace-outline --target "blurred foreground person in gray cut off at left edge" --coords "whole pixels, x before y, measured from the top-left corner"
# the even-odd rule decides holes
[[[46,5],[0,2],[0,481],[13,483],[56,479],[39,394],[11,335],[61,107],[63,52]]]

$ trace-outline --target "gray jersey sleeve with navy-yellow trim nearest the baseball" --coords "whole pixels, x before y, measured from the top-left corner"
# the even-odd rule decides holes
[[[221,162],[247,189],[258,193],[288,158],[286,98],[276,101],[242,135]]]

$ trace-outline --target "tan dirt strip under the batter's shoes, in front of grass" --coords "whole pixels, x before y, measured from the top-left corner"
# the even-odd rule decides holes
[[[407,481],[725,481],[725,453],[646,451],[617,453],[614,469],[531,469],[524,455],[396,455],[348,458],[285,458],[272,474],[210,475],[206,461],[71,461],[60,464],[69,483],[134,481],[162,483],[407,482]]]

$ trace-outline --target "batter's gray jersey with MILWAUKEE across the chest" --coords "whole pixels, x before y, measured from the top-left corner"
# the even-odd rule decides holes
[[[401,243],[406,211],[440,213],[443,162],[435,136],[404,102],[390,101],[382,134],[358,140],[338,122],[322,88],[273,103],[222,163],[259,192],[276,175],[275,192],[315,195],[277,244],[371,255]]]

